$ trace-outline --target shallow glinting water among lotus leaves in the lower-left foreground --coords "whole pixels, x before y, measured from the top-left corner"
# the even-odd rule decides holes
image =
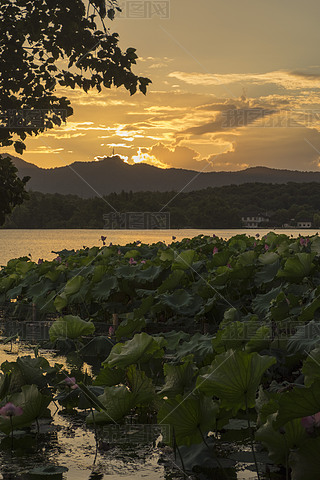
[[[13,362],[18,356],[24,355],[34,356],[31,346],[14,342],[10,351],[10,346],[0,344],[0,364],[6,360]],[[56,356],[54,352],[45,349],[40,349],[39,355],[44,356],[51,365],[56,362],[62,364],[68,372],[77,365],[74,359]],[[35,439],[34,427],[33,435],[15,439],[12,453],[6,438],[0,435],[0,480],[25,480],[29,478],[25,472],[48,465],[67,467],[68,472],[63,475],[63,480],[182,480],[181,469],[175,468],[173,454],[154,448],[150,442],[143,444],[127,441],[126,444],[111,445],[110,450],[100,447],[94,461],[96,448],[93,429],[87,428],[79,415],[63,413],[61,406],[56,408],[51,404],[50,410],[52,421],[40,420],[39,438]],[[104,438],[101,429],[99,438]],[[232,450],[226,454],[240,450],[247,455],[247,449],[247,443],[234,443]],[[160,457],[162,463],[158,463]],[[253,471],[247,469],[249,464],[253,467],[252,460],[241,462],[237,465],[237,480],[257,480]],[[262,471],[263,463],[260,468]],[[190,476],[186,478],[191,479]]]

